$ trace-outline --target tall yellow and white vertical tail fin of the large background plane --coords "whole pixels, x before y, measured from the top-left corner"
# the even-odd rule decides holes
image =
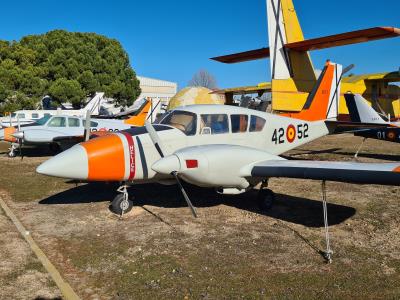
[[[300,111],[317,79],[306,51],[294,51],[285,44],[304,41],[292,0],[267,0],[272,109]]]

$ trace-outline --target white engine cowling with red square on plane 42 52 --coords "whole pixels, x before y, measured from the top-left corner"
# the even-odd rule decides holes
[[[235,145],[188,147],[152,165],[160,174],[178,172],[185,181],[203,187],[245,189],[250,183],[243,168],[258,161],[282,159],[267,152]]]

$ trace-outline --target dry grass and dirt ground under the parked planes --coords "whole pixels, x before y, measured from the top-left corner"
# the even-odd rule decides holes
[[[351,160],[360,142],[329,136],[288,155]],[[359,160],[400,161],[399,150],[368,140]],[[108,209],[114,185],[38,175],[46,159],[38,153],[0,157],[1,197],[83,299],[400,297],[398,187],[327,183],[334,256],[325,264],[320,182],[271,180],[277,199],[266,213],[255,192],[221,196],[186,185],[197,219],[176,186],[134,186],[135,207],[120,219]],[[0,298],[59,297],[2,213],[0,224]]]

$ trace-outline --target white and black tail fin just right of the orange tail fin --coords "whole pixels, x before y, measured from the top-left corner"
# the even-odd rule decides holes
[[[347,108],[349,109],[350,119],[355,123],[376,123],[385,124],[382,117],[368,105],[367,100],[359,94],[344,94]]]

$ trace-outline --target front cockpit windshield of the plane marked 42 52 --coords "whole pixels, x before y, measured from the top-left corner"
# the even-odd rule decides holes
[[[186,135],[195,135],[197,115],[187,111],[175,110],[166,115],[160,124],[175,127]]]

